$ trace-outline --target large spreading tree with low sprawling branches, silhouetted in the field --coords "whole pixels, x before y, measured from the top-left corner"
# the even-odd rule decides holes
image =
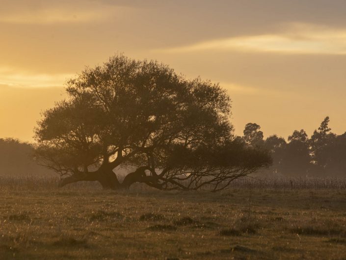
[[[35,129],[40,162],[62,176],[61,186],[216,191],[270,163],[268,153],[234,138],[224,89],[157,61],[116,55],[68,81],[66,91]],[[133,169],[122,182],[121,166]]]

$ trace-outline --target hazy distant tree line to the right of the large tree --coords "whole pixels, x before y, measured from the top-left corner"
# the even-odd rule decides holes
[[[264,139],[256,123],[245,125],[243,137],[248,146],[270,151],[272,165],[262,173],[277,176],[344,177],[346,175],[346,132],[332,133],[325,117],[309,138],[304,129],[294,130],[287,139],[272,135]]]

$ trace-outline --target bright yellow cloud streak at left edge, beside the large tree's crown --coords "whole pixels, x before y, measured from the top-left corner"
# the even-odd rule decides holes
[[[56,87],[72,77],[72,74],[37,74],[0,67],[0,85],[9,87]]]

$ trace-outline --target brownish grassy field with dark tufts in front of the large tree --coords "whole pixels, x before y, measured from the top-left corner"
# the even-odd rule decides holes
[[[343,184],[270,183],[112,192],[2,178],[0,260],[345,260]]]

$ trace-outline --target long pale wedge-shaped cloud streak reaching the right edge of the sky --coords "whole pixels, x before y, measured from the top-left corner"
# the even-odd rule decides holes
[[[346,29],[295,24],[280,33],[231,37],[158,52],[253,51],[286,54],[346,55]]]

